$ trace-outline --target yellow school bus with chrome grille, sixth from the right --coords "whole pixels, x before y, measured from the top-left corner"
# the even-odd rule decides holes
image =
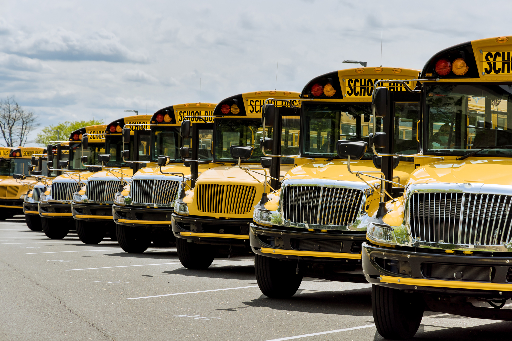
[[[101,133],[106,125],[92,125],[73,131],[68,146],[60,149],[68,151],[67,160],[48,160],[47,169],[61,174],[52,179],[51,185],[46,187],[44,193],[39,195],[37,203],[38,213],[41,217],[42,230],[51,239],[66,237],[70,229],[75,228],[71,203],[75,192],[87,184],[87,179],[93,174],[81,162],[82,155],[88,156],[89,165],[99,165],[99,155],[105,154],[105,137]],[[87,148],[82,146],[82,137],[89,135]],[[49,146],[50,147],[50,146]],[[52,156],[53,153],[48,156]],[[48,166],[50,164],[50,166]]]

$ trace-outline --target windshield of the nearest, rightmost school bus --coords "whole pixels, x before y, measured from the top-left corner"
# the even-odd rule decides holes
[[[512,85],[426,87],[426,150],[442,154],[512,154]],[[498,148],[496,148],[498,147]]]

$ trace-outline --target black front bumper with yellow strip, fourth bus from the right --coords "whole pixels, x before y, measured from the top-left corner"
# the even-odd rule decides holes
[[[140,206],[112,205],[112,217],[119,225],[132,228],[170,230],[174,209],[148,209]]]

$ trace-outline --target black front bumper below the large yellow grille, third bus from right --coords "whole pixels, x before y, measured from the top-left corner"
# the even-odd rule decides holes
[[[252,220],[205,219],[176,213],[172,217],[173,232],[177,238],[202,244],[250,247],[249,224]]]

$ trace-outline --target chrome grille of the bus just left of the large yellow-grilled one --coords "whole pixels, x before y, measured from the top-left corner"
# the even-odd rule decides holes
[[[175,180],[132,180],[130,191],[134,203],[170,204],[178,193],[180,181]]]

